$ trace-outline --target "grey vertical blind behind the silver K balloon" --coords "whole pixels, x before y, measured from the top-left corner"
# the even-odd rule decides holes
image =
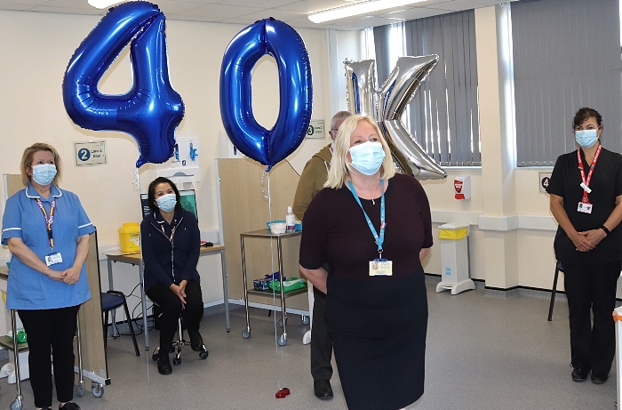
[[[404,23],[406,54],[438,54],[410,107],[411,133],[444,166],[482,165],[474,11]]]

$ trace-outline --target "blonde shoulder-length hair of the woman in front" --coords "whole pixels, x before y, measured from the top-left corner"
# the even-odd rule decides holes
[[[395,175],[395,166],[393,165],[393,157],[391,157],[391,150],[388,148],[387,141],[382,136],[378,124],[376,121],[367,116],[351,116],[347,117],[346,121],[339,126],[339,133],[335,138],[335,151],[332,153],[331,170],[328,173],[328,179],[324,183],[324,187],[339,189],[343,187],[343,184],[350,181],[350,172],[347,164],[347,151],[350,149],[350,136],[355,132],[358,123],[366,121],[373,126],[378,133],[380,143],[382,143],[382,149],[385,151],[385,159],[380,165],[380,179],[388,180]]]

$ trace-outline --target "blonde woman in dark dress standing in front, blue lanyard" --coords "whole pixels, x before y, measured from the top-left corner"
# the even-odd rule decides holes
[[[426,193],[411,176],[395,173],[378,125],[363,116],[339,127],[325,187],[305,213],[300,270],[327,295],[347,406],[403,408],[424,385],[421,260],[433,242]]]

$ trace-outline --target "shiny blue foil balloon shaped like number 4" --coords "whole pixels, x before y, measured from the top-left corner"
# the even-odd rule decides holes
[[[69,117],[94,131],[123,131],[136,141],[136,167],[172,157],[184,104],[171,87],[164,15],[155,4],[120,4],[100,20],[76,49],[62,84]],[[126,44],[132,42],[132,89],[104,95],[97,84]]]

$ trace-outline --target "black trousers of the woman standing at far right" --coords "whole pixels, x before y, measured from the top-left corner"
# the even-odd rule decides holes
[[[572,366],[582,364],[596,373],[610,372],[616,354],[616,328],[611,313],[616,307],[620,262],[563,265]]]

